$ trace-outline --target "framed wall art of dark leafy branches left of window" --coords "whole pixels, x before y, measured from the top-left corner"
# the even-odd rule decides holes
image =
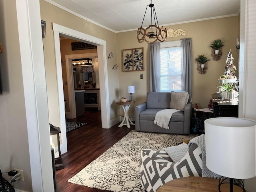
[[[122,50],[123,72],[144,71],[144,48]]]

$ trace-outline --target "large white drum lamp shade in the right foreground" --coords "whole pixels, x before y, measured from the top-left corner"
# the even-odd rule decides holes
[[[206,166],[228,178],[256,176],[256,121],[210,118],[204,121]]]

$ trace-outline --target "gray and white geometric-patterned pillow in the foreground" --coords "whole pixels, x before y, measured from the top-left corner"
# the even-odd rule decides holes
[[[141,150],[140,178],[147,192],[156,192],[166,182],[188,176],[202,176],[202,152],[197,144],[193,143],[177,163],[151,149]]]

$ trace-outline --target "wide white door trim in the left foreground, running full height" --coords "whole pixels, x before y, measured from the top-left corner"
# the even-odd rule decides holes
[[[19,186],[32,184],[34,192],[54,192],[40,2],[16,0],[16,11],[28,130],[28,138],[23,139],[28,139],[31,170]]]

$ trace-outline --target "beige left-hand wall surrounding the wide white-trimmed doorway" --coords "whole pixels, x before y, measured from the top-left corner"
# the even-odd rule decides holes
[[[116,118],[119,113],[119,108],[115,102],[118,100],[118,73],[112,70],[116,64],[116,34],[110,32],[100,26],[87,22],[82,18],[78,18],[44,0],[40,0],[40,10],[42,20],[46,21],[46,38],[44,38],[44,56],[46,65],[46,81],[48,91],[49,103],[49,118],[50,122],[55,126],[59,126],[59,112],[58,112],[58,88],[56,80],[56,63],[54,55],[54,42],[52,23],[59,24],[83,32],[85,34],[100,38],[106,41],[107,55],[110,52],[114,53],[114,57],[107,60],[108,69],[108,84],[109,98],[110,98],[110,116],[111,119]],[[99,69],[100,70],[100,69]]]

